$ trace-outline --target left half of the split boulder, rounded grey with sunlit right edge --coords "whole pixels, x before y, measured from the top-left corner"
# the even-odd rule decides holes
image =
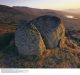
[[[22,55],[39,55],[40,51],[46,49],[37,28],[25,22],[17,27],[15,44]]]

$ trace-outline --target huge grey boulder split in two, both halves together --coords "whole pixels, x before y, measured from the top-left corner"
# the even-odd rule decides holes
[[[41,16],[19,24],[15,43],[23,55],[39,55],[46,49],[64,47],[65,28],[60,18]]]

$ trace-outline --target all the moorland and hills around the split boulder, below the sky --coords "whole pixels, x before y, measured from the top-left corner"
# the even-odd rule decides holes
[[[65,48],[47,49],[41,53],[40,58],[36,56],[21,56],[17,52],[17,48],[14,42],[15,31],[17,29],[16,26],[19,25],[21,21],[30,22],[36,17],[43,15],[56,16],[64,22]],[[72,16],[72,18],[67,16]],[[34,22],[33,24],[36,23]],[[0,67],[80,67],[79,35],[80,16],[77,14],[49,9],[36,9],[22,6],[9,7],[0,5]],[[62,45],[64,46],[64,44]]]

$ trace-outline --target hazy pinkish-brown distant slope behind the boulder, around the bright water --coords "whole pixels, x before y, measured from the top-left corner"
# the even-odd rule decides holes
[[[49,10],[49,9],[36,9],[36,8],[29,8],[29,7],[19,7],[15,6],[13,7],[16,10],[19,10],[20,12],[24,13],[25,15],[28,16],[28,19],[31,20],[33,18],[36,18],[38,16],[43,16],[43,15],[52,15],[52,16],[57,16],[63,19],[65,27],[67,29],[78,29],[80,30],[80,16],[78,14],[70,13],[70,12],[65,12],[65,11],[57,11],[57,10]],[[67,18],[66,15],[69,16],[74,16],[75,18]]]

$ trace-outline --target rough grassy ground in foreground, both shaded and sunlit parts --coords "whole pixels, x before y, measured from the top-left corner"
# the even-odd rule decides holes
[[[11,35],[12,34],[7,34]],[[0,50],[1,68],[79,68],[80,48],[65,38],[65,47],[47,49],[39,56],[22,56],[14,43],[9,43]]]

